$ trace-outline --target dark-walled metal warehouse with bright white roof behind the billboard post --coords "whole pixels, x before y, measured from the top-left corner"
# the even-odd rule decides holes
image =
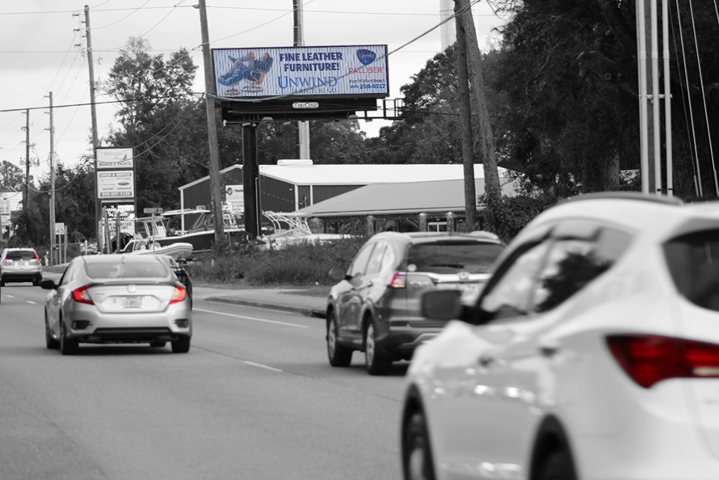
[[[507,171],[500,168],[500,178]],[[220,171],[222,186],[242,185],[242,165]],[[260,165],[260,210],[296,212],[370,184],[416,183],[461,180],[462,164],[314,165],[312,160],[278,160]],[[482,165],[475,165],[475,178],[484,178]],[[223,189],[224,191],[224,189]],[[482,191],[477,191],[477,195]],[[180,187],[180,208],[210,204],[209,176]]]

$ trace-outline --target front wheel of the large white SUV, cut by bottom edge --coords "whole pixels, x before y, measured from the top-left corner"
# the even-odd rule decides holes
[[[402,438],[402,470],[405,480],[434,480],[434,463],[424,415],[409,417]]]

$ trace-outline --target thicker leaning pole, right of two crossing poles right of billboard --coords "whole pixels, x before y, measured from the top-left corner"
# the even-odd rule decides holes
[[[499,184],[492,123],[490,122],[490,113],[487,108],[487,98],[485,97],[485,78],[482,75],[481,63],[482,53],[477,43],[477,32],[475,31],[475,22],[472,19],[470,0],[454,0],[454,12],[457,14],[455,20],[457,22],[458,45],[459,38],[464,37],[467,50],[467,69],[470,86],[472,87],[470,96],[474,99],[475,107],[473,116],[479,118],[479,124],[474,131],[474,135],[477,137],[477,145],[479,145],[477,153],[485,173],[485,229],[495,230],[493,211],[498,202],[501,201],[502,190]],[[474,177],[473,174],[472,177]],[[472,178],[473,181],[474,178]]]

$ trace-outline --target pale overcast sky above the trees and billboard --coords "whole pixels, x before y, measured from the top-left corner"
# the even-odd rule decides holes
[[[96,80],[107,77],[119,50],[131,36],[142,36],[154,55],[185,47],[198,70],[203,91],[197,0],[0,0],[0,160],[24,168],[29,112],[30,158],[49,172],[49,99],[52,91],[55,153],[73,166],[91,151],[88,63],[85,55],[85,5],[90,7]],[[292,0],[206,0],[210,46],[284,47],[293,44]],[[390,52],[439,23],[440,0],[303,0],[305,44],[388,45]],[[485,1],[473,7],[480,47],[503,24]],[[73,15],[74,13],[74,15]],[[390,55],[390,98],[441,50],[439,29]],[[111,101],[98,92],[97,102]],[[80,106],[75,106],[81,104]],[[83,105],[84,104],[84,105]],[[68,107],[63,107],[68,106]],[[114,123],[116,107],[99,105],[99,136]],[[376,136],[387,122],[360,121]],[[191,181],[191,179],[188,179]]]

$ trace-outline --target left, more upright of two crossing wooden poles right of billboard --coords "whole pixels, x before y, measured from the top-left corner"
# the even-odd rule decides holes
[[[464,215],[469,230],[477,222],[477,190],[475,189],[475,148],[472,138],[472,100],[470,97],[470,76],[467,70],[467,36],[459,28],[457,19],[457,90],[459,91],[459,119],[462,124],[462,164],[464,165]]]

